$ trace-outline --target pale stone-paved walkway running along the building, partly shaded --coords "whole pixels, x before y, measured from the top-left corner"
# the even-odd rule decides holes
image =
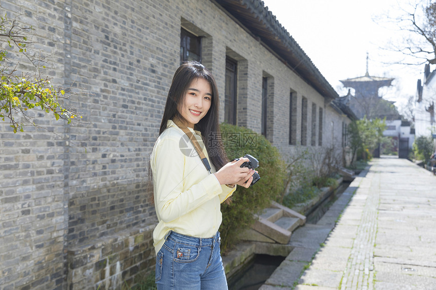
[[[375,158],[290,244],[261,290],[436,290],[436,177]]]

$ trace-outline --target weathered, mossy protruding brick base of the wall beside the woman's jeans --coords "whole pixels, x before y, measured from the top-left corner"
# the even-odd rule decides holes
[[[135,284],[154,267],[153,228],[124,231],[68,250],[68,289],[119,289]]]

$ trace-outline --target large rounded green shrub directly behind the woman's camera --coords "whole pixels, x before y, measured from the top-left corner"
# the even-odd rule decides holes
[[[252,187],[238,186],[233,193],[233,202],[223,203],[223,223],[221,232],[221,251],[226,253],[238,242],[239,234],[249,229],[255,222],[253,214],[266,208],[276,199],[282,189],[285,177],[285,164],[277,148],[262,135],[249,129],[223,123],[221,125],[223,142],[229,159],[250,154],[259,160],[261,179]]]

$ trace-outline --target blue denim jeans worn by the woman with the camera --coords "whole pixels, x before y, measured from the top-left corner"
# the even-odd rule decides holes
[[[195,238],[170,231],[156,256],[158,290],[226,290],[220,233]]]

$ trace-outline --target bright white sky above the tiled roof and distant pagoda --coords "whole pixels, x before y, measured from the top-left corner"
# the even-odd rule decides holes
[[[386,50],[406,34],[386,15],[401,15],[409,0],[263,1],[340,96],[348,91],[340,80],[365,75],[367,53],[371,76],[395,78],[390,88],[380,90],[383,98],[401,110],[415,96],[424,65],[392,64],[404,55]]]

